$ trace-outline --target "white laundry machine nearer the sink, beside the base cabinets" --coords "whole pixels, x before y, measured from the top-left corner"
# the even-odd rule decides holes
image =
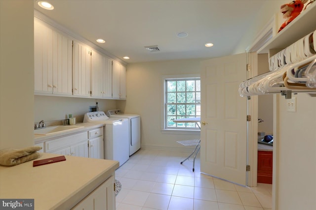
[[[117,160],[119,166],[129,159],[129,121],[110,119],[103,111],[84,114],[83,122],[104,123],[104,159]]]

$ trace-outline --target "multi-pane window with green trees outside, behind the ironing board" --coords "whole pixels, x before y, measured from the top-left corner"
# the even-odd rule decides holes
[[[164,90],[164,128],[197,130],[196,123],[173,120],[201,115],[200,78],[165,78]]]

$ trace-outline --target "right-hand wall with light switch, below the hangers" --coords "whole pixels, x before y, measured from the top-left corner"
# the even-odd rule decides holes
[[[292,97],[296,112],[286,111],[286,99],[277,96],[276,210],[315,210],[316,98],[305,93]]]

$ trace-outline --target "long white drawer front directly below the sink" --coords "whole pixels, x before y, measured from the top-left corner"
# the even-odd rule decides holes
[[[87,140],[87,132],[62,137],[59,139],[48,140],[45,142],[45,152],[50,152],[56,149],[61,149],[66,146],[70,146],[80,142],[81,140]]]

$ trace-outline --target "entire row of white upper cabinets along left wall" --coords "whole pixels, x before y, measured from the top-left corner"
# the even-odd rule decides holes
[[[34,17],[35,95],[126,99],[126,68],[84,43]]]

